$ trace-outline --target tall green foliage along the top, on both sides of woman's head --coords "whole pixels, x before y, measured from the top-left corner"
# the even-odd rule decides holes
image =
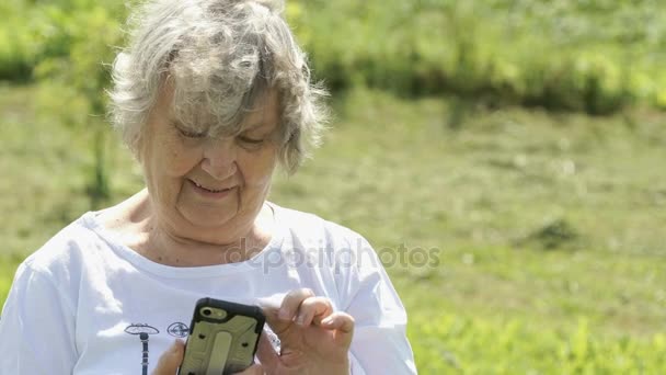
[[[0,7],[10,14],[0,25],[0,79],[13,80],[54,56],[83,57],[70,76],[96,77],[89,63],[108,61],[127,14],[111,0]],[[334,90],[453,93],[589,114],[634,103],[666,109],[662,2],[294,0],[287,16],[317,77]]]

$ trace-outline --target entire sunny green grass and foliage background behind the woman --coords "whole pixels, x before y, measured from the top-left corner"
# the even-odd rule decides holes
[[[0,14],[2,303],[28,253],[142,180],[105,121],[123,2]],[[271,200],[380,251],[421,373],[666,371],[666,2],[291,0],[287,15],[335,121]]]

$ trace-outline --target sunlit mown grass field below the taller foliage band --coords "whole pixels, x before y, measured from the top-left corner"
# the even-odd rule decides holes
[[[58,120],[79,113],[68,92],[0,88],[2,298],[18,262],[90,208],[90,132]],[[332,104],[323,148],[296,175],[278,173],[271,198],[349,226],[384,254],[437,249],[437,266],[387,264],[422,373],[661,373],[663,114],[364,89]],[[108,156],[111,204],[142,179],[115,139]]]

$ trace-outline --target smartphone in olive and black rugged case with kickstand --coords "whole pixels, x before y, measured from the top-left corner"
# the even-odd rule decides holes
[[[248,368],[254,361],[264,322],[259,306],[199,299],[179,375],[226,375]]]

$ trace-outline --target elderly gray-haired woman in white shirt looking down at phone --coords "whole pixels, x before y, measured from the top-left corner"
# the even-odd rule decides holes
[[[154,0],[114,65],[113,118],[146,189],[19,268],[3,374],[175,374],[195,302],[261,304],[245,373],[415,373],[406,316],[356,232],[266,201],[324,120],[322,90],[259,0]]]

